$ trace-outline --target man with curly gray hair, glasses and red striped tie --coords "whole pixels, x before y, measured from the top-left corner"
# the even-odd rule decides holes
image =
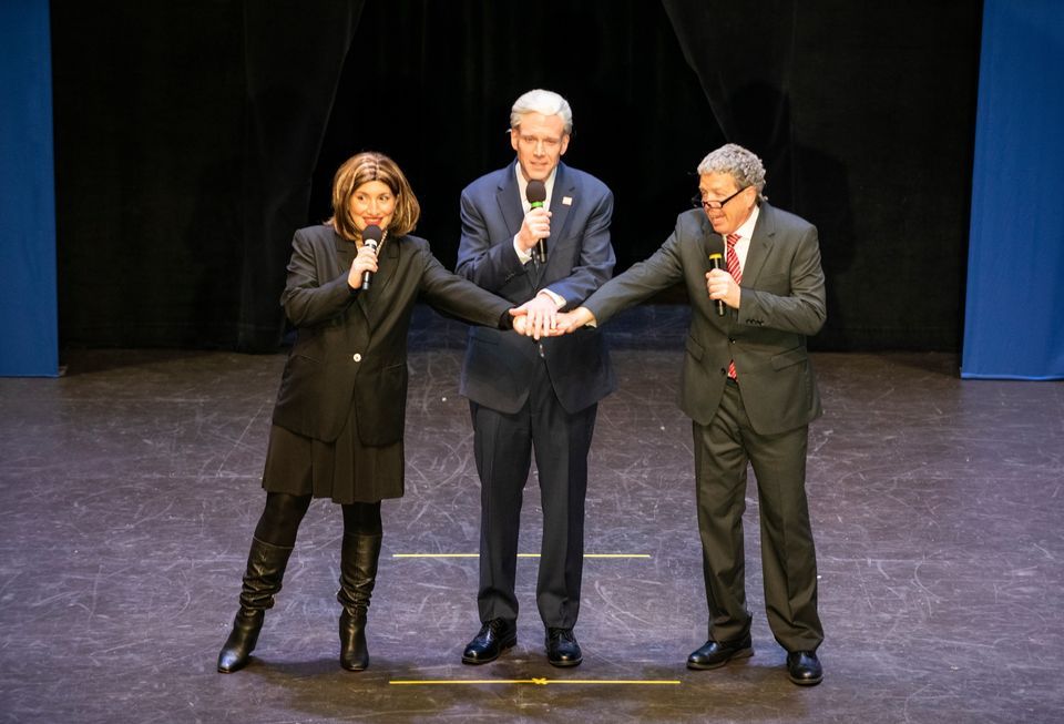
[[[696,208],[665,244],[559,320],[563,332],[603,324],[654,293],[683,283],[690,327],[679,406],[692,418],[695,491],[709,608],[706,643],[689,669],[753,655],[746,605],[743,512],[746,470],[757,479],[765,608],[787,672],[819,684],[817,561],[806,500],[809,422],[820,397],[806,337],[823,326],[817,230],[771,206],[765,167],[729,143],[698,164]]]

